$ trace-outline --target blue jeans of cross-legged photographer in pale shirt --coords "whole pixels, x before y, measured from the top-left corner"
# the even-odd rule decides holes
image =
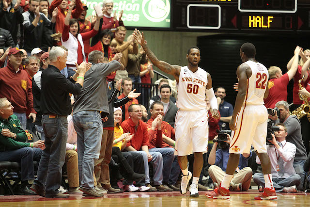
[[[263,187],[265,186],[265,180],[262,173],[255,173],[253,180],[257,185]],[[272,178],[272,182],[276,192],[281,192],[284,187],[298,186],[300,183],[300,176],[298,174],[294,174],[287,178]]]

